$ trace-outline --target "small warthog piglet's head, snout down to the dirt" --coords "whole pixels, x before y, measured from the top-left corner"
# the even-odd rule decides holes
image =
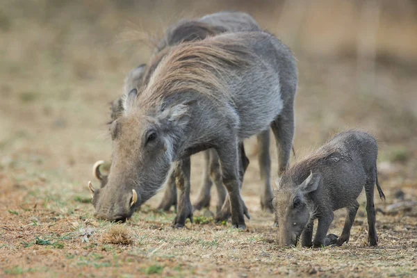
[[[297,184],[291,177],[281,177],[272,201],[279,223],[281,245],[297,245],[313,211],[306,195],[317,189],[320,178],[320,174],[311,173],[301,184]]]

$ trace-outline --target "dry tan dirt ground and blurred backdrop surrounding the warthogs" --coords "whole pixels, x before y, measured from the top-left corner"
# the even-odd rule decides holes
[[[364,47],[359,51],[364,56],[357,58],[356,40],[348,38],[361,31],[360,13],[346,3],[304,13],[301,6],[275,7],[274,1],[259,6],[250,1],[132,2],[0,3],[0,277],[417,276],[417,55],[409,47],[416,45],[417,22],[407,21],[417,18],[414,6],[397,7],[395,13],[406,14],[401,20],[381,17],[376,53]],[[345,129],[359,127],[378,138],[386,202],[375,195],[377,247],[366,245],[363,195],[347,245],[280,247],[273,217],[259,204],[254,138],[245,142],[247,231],[231,229],[229,222],[213,224],[210,211],[196,212],[198,223],[172,229],[175,213],[155,209],[162,192],[125,224],[94,219],[87,181],[98,186],[92,164],[111,157],[108,103],[122,92],[124,75],[146,62],[152,49],[134,40],[142,32],[131,30],[147,30],[157,38],[182,16],[225,8],[250,12],[294,49],[300,72],[298,157]],[[300,11],[302,18],[295,16]],[[345,26],[340,44],[334,40],[341,38],[337,24]],[[275,179],[274,145],[271,152]],[[202,163],[201,154],[193,156],[192,201]],[[211,211],[214,201],[215,193]],[[340,234],[344,218],[345,211],[336,213],[329,232]]]

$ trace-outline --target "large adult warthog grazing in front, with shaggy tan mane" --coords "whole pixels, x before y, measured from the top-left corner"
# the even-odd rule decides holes
[[[107,185],[94,193],[95,216],[129,218],[156,194],[173,166],[179,189],[174,226],[183,227],[193,218],[190,155],[214,148],[232,225],[245,229],[240,184],[247,165],[239,158],[240,146],[271,127],[283,172],[293,140],[296,90],[293,53],[269,33],[225,33],[172,47],[144,90],[137,96],[129,92],[123,115],[111,124],[113,161]],[[129,206],[133,189],[138,201]]]

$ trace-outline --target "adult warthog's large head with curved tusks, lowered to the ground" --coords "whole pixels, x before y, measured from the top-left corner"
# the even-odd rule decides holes
[[[136,89],[129,93],[127,106],[136,94]],[[133,107],[111,124],[110,174],[102,188],[89,185],[96,218],[124,221],[163,186],[174,161],[177,139],[189,119],[187,111],[184,104],[164,109]]]

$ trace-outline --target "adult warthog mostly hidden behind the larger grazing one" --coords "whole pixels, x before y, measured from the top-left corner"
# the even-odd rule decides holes
[[[256,21],[246,13],[239,12],[220,12],[211,15],[206,15],[201,19],[182,20],[181,22],[168,28],[164,38],[158,43],[155,54],[163,51],[163,49],[170,47],[180,42],[187,42],[191,40],[202,40],[208,35],[215,35],[224,32],[236,31],[259,31],[260,27]],[[124,81],[124,92],[128,94],[131,90],[139,88],[142,85],[143,75],[145,74],[146,65],[140,65],[132,70]],[[119,98],[111,104],[111,119],[116,120],[123,112],[122,98]],[[272,212],[272,188],[270,186],[270,132],[263,131],[257,136],[259,145],[258,162],[261,171],[261,180],[263,189],[261,190],[261,208],[265,211]],[[292,138],[290,138],[292,140]],[[243,146],[242,146],[243,147]],[[246,158],[247,159],[247,158]],[[226,199],[226,190],[222,185],[222,178],[220,172],[220,163],[218,154],[214,149],[208,149],[204,154],[204,172],[202,186],[199,190],[199,195],[196,202],[193,204],[195,210],[208,207],[211,200],[211,186],[215,184],[218,192],[218,203],[216,211],[219,213],[224,200]],[[249,161],[247,161],[249,163]],[[280,161],[282,165],[288,165],[288,161]],[[281,167],[281,170],[284,167]],[[173,173],[174,174],[174,173]],[[104,177],[104,176],[103,176]],[[105,177],[106,178],[106,177]],[[105,182],[104,182],[105,181]],[[167,179],[167,186],[165,194],[158,209],[165,211],[170,210],[172,205],[177,206],[177,189],[175,186],[175,177]],[[104,186],[107,179],[101,180],[101,187]],[[103,184],[104,183],[104,184]],[[228,206],[225,206],[228,207]],[[224,213],[226,218],[229,212]]]

